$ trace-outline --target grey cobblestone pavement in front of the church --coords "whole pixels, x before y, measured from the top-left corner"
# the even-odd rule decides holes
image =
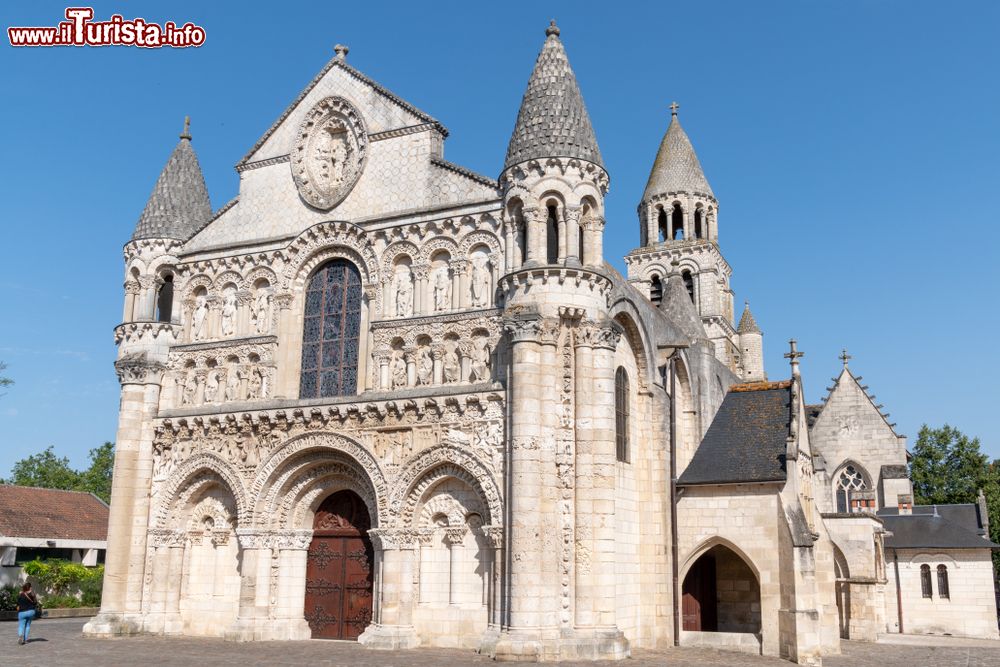
[[[344,667],[465,667],[492,664],[471,651],[416,649],[370,651],[354,642],[233,643],[218,639],[131,637],[85,639],[85,619],[51,619],[32,627],[31,641],[18,646],[17,624],[0,624],[3,664],[84,665],[343,665]],[[823,661],[826,667],[1000,667],[1000,648],[965,646],[900,646],[844,642],[844,653]],[[692,648],[635,651],[625,663],[563,663],[566,667],[787,667],[775,658]]]

